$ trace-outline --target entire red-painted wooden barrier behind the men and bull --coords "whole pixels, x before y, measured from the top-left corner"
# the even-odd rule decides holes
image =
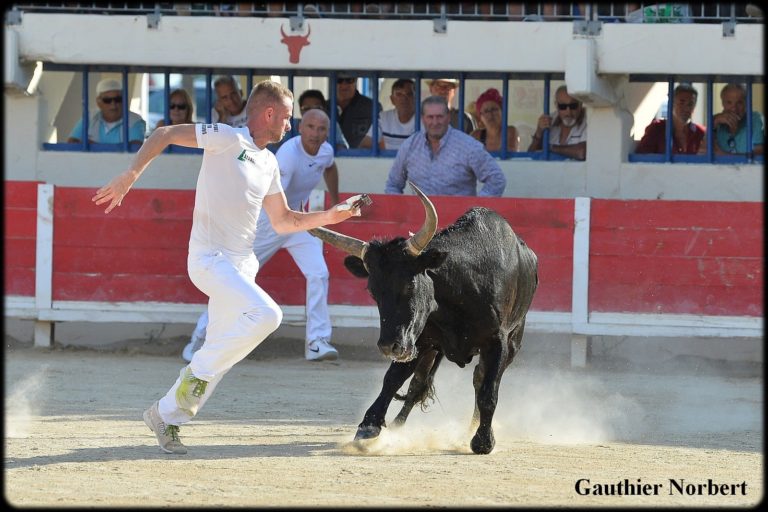
[[[34,295],[36,187],[6,182],[6,294]],[[109,215],[91,202],[93,193],[55,188],[54,300],[205,301],[186,272],[193,191],[132,190]],[[370,240],[421,226],[414,196],[372,198],[364,217],[334,228]],[[472,205],[507,218],[539,258],[532,309],[570,311],[573,200],[431,199],[440,228]],[[762,316],[762,219],[762,203],[592,200],[589,310]],[[325,253],[330,303],[372,306],[365,281],[344,268],[345,254],[327,245]],[[285,251],[263,265],[257,282],[280,304],[304,303],[304,278]]]

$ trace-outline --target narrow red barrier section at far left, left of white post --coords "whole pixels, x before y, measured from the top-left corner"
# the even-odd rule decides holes
[[[35,181],[5,182],[3,261],[6,295],[35,296],[37,185]]]

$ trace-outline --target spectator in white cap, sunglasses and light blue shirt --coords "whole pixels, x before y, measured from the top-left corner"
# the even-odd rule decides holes
[[[123,84],[119,80],[105,78],[96,85],[96,105],[99,111],[88,122],[88,142],[119,144],[123,142]],[[147,123],[135,112],[128,111],[128,141],[144,142]],[[83,120],[80,119],[67,142],[80,143],[83,137]]]

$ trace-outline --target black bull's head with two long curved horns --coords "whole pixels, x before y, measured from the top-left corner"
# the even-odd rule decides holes
[[[368,291],[379,308],[379,350],[398,362],[416,357],[416,340],[437,308],[427,271],[439,267],[447,256],[428,247],[437,231],[437,212],[432,201],[409,184],[424,205],[426,219],[419,232],[408,239],[363,242],[325,228],[309,230],[350,254],[344,266],[355,276],[368,278]]]

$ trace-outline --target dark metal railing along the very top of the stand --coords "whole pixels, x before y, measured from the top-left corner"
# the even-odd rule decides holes
[[[380,2],[380,3],[123,3],[46,2],[14,4],[6,11],[6,22],[23,12],[103,15],[161,16],[274,16],[299,18],[373,18],[484,21],[571,21],[645,23],[762,23],[756,4],[740,2],[693,3],[509,3],[509,2]]]

